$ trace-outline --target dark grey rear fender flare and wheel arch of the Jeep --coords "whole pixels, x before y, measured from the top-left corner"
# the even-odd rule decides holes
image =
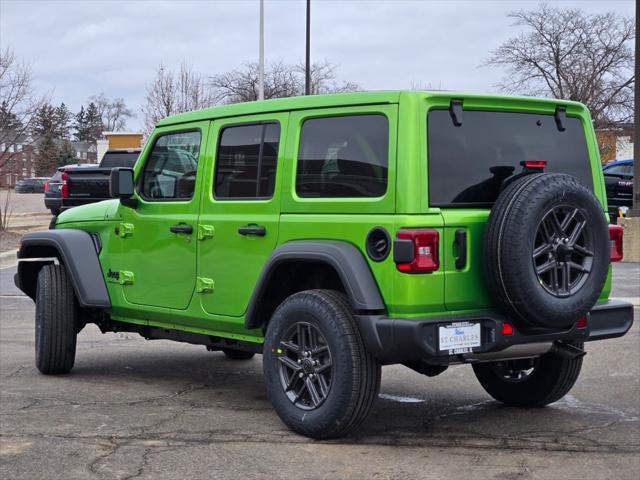
[[[292,283],[292,278],[300,281],[287,288],[283,280]],[[385,310],[378,284],[357,247],[341,241],[295,240],[276,248],[267,260],[247,308],[246,328],[266,324],[279,301],[310,288],[344,291],[356,312]]]

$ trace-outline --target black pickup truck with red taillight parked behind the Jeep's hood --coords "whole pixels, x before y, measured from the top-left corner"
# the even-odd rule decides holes
[[[67,208],[109,199],[109,175],[116,167],[133,167],[140,155],[139,148],[107,150],[97,167],[65,167],[59,181],[45,192],[45,205],[55,215]],[[56,173],[56,175],[58,175]],[[53,183],[58,188],[51,188]]]

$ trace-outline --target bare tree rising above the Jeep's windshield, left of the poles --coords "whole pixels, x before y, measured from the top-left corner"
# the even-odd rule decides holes
[[[142,107],[145,128],[151,131],[158,121],[176,113],[210,107],[215,99],[203,77],[187,63],[178,72],[158,67],[156,78],[147,87]]]

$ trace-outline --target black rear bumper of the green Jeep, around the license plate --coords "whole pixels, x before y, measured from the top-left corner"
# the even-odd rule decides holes
[[[468,352],[491,354],[516,345],[551,344],[556,341],[588,342],[621,337],[633,324],[633,305],[609,300],[596,305],[587,317],[585,328],[573,326],[563,331],[522,333],[517,328],[513,335],[502,334],[502,324],[507,318],[498,313],[477,316],[451,316],[429,319],[405,320],[381,315],[357,315],[355,317],[365,345],[385,363],[427,360],[433,364],[449,364],[465,361],[464,355],[450,355],[438,348],[438,327],[452,322],[479,322],[480,347]]]

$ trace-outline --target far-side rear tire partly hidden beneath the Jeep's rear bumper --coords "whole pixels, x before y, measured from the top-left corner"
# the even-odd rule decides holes
[[[480,385],[489,395],[506,405],[523,408],[544,407],[560,400],[576,383],[581,368],[581,356],[568,358],[554,352],[536,359],[473,365]]]

